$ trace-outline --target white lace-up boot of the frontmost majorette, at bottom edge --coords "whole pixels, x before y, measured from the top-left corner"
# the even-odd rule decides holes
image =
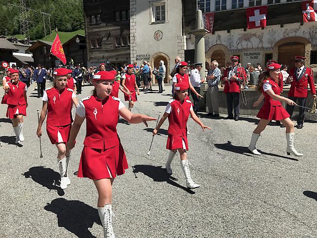
[[[115,233],[112,228],[112,206],[106,204],[103,207],[98,207],[98,214],[103,227],[104,238],[115,238]]]

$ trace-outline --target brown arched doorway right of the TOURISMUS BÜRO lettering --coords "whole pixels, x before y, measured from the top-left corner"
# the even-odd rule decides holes
[[[305,55],[305,44],[300,42],[288,42],[278,46],[277,62],[294,67],[295,56]]]

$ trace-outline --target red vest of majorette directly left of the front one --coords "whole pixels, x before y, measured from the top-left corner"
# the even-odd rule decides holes
[[[65,126],[73,122],[72,95],[74,91],[65,88],[59,91],[57,88],[46,89],[47,94],[47,119],[46,123],[52,126]]]

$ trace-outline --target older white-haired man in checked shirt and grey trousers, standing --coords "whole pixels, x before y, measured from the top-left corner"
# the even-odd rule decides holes
[[[218,103],[218,84],[221,77],[221,70],[218,68],[217,60],[210,64],[211,71],[207,76],[208,89],[206,92],[206,106],[208,108],[208,116],[212,118],[219,117],[219,103]]]

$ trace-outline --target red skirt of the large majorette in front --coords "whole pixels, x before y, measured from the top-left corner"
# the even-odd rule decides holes
[[[89,179],[110,179],[122,175],[128,162],[121,143],[115,147],[100,150],[84,145],[79,162],[78,177]]]

